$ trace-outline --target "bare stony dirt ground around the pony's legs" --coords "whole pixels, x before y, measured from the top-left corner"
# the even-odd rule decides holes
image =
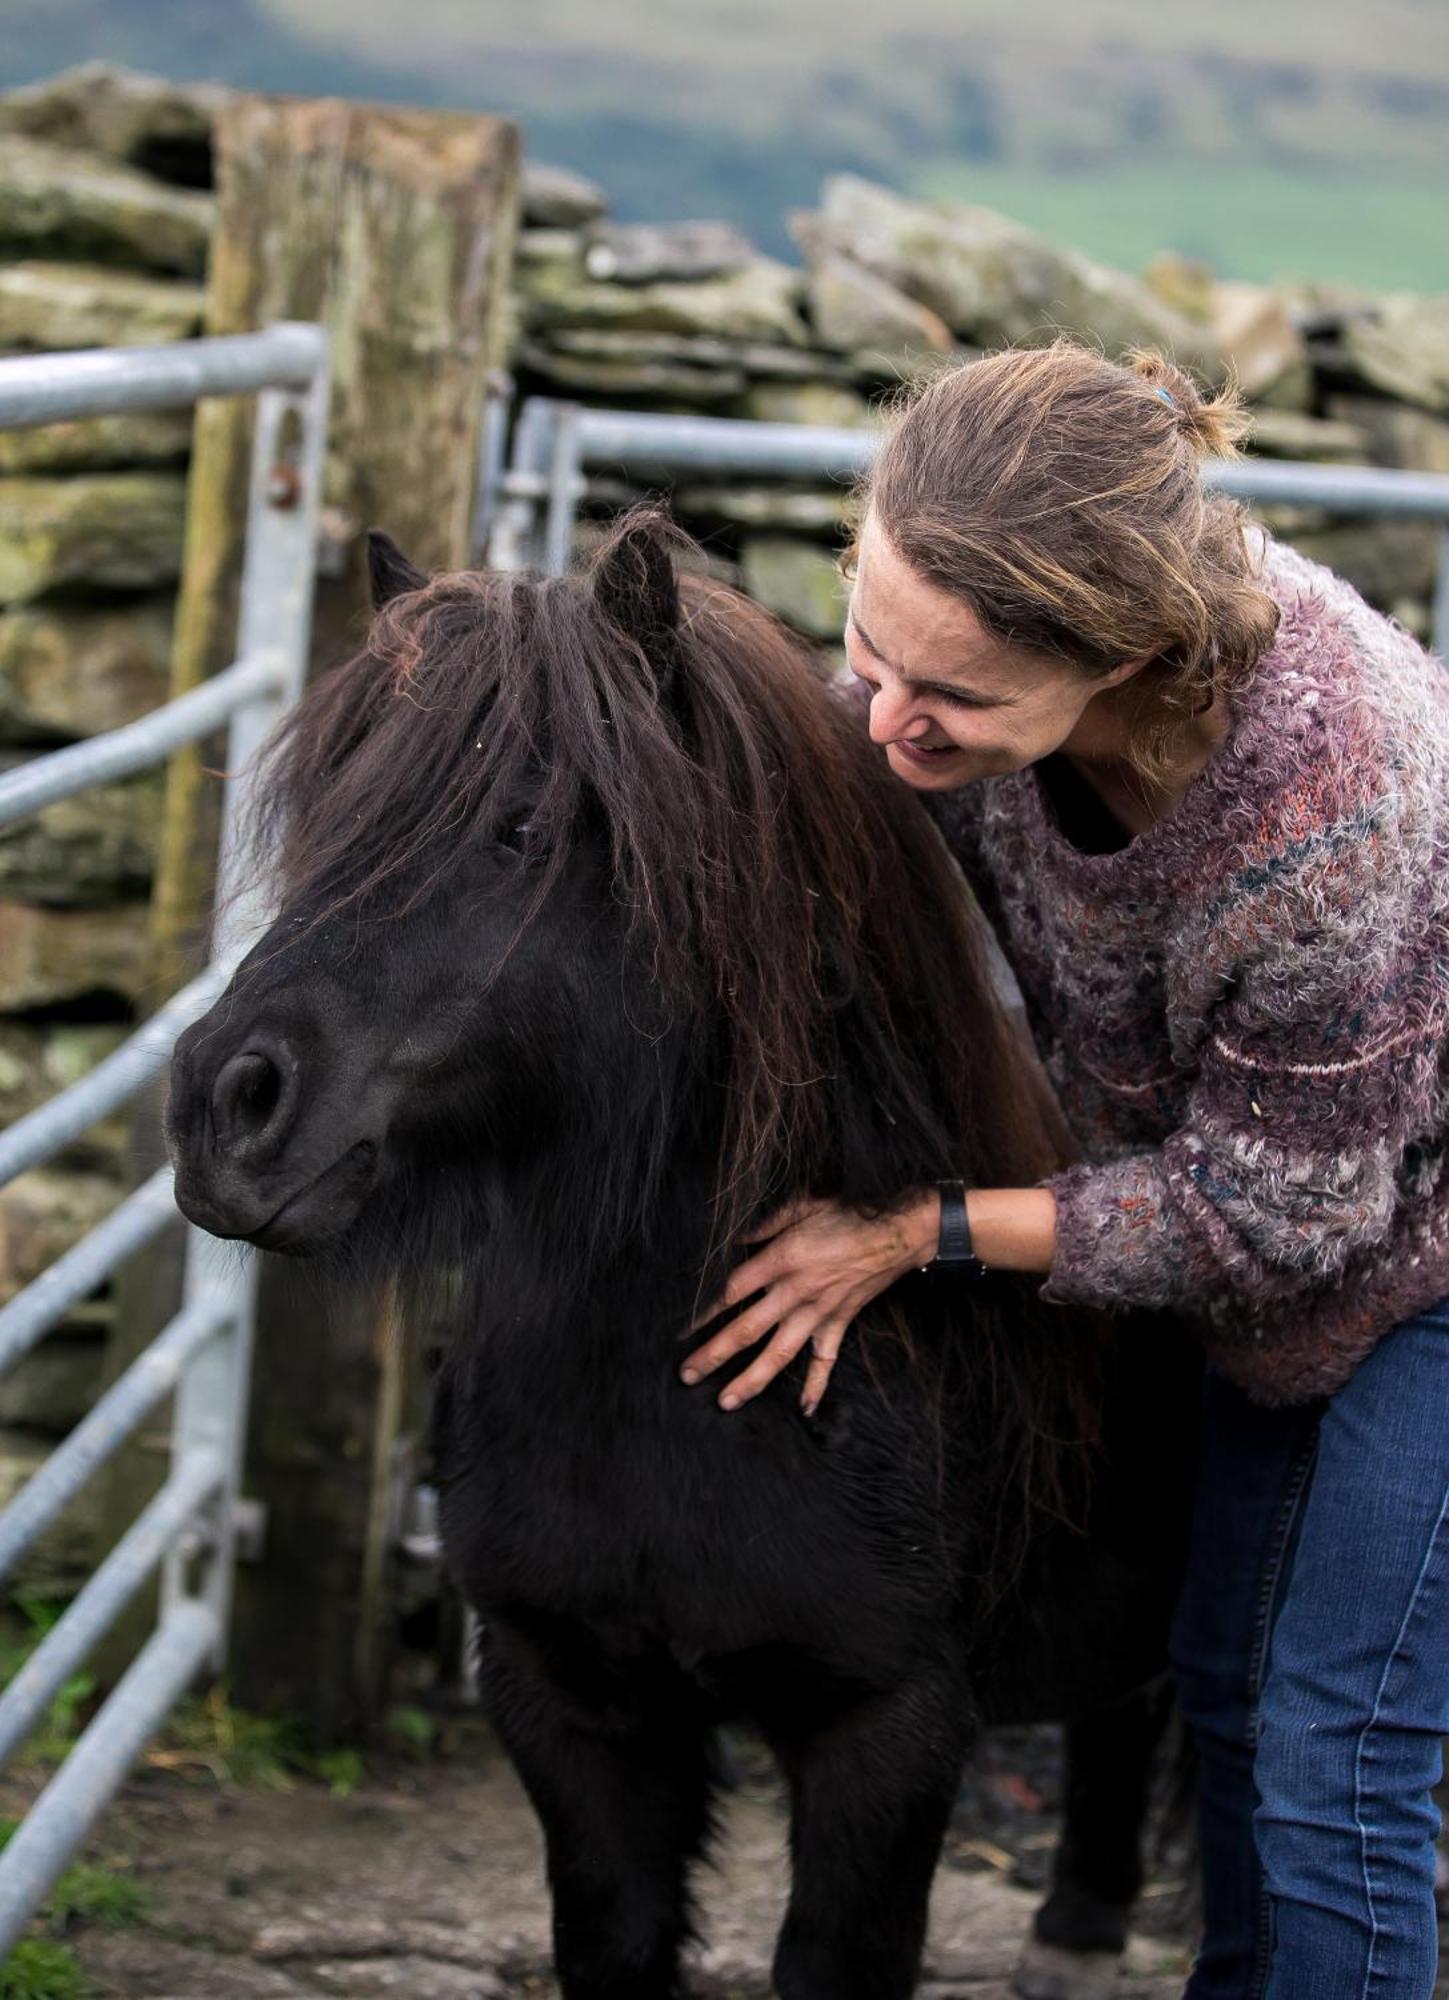
[[[6,1794],[4,1810],[22,1806],[14,1784]],[[775,1788],[747,1780],[724,1820],[694,1980],[710,2000],[757,2000],[785,1884]],[[378,1768],[346,1798],[146,1772],[88,1856],[148,1892],[142,1924],[66,1940],[106,2000],[556,1996],[538,1834],[496,1752]],[[1005,1850],[959,1830],[937,1882],[923,2000],[1005,2000],[1035,1906],[1005,1866]],[[1177,2000],[1183,1966],[1171,1942],[1135,1940],[1117,1992]]]

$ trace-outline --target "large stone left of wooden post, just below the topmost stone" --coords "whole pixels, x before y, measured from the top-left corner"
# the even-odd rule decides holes
[[[116,160],[0,136],[0,246],[198,278],[216,204]]]

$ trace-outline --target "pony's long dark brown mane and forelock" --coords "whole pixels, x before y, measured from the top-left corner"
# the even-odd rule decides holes
[[[702,574],[678,590],[668,674],[590,576],[442,574],[388,602],[270,752],[288,906],[414,906],[522,838],[522,930],[582,842],[606,854],[654,990],[718,1040],[716,1242],[797,1192],[887,1210],[953,1174],[1041,1180],[1063,1126],[921,802],[771,614]],[[1077,1430],[1041,1320],[995,1366],[1039,1428]]]

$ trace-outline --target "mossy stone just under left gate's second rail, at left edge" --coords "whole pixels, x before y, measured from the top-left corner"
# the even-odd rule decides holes
[[[0,752],[0,772],[26,764]],[[144,896],[156,868],[162,772],[56,800],[0,828],[0,898],[94,908]]]

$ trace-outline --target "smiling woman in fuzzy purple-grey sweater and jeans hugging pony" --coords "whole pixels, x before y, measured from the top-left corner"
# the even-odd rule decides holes
[[[971,1188],[987,1266],[1209,1358],[1173,1656],[1195,2000],[1427,1996],[1449,1730],[1449,682],[1207,496],[1245,428],[1159,356],[943,374],[873,470],[849,660],[997,926],[1085,1164]],[[797,1204],[684,1366],[737,1408],[957,1230]],[[759,1294],[759,1296],[755,1296]],[[716,1316],[714,1306],[704,1320]]]

